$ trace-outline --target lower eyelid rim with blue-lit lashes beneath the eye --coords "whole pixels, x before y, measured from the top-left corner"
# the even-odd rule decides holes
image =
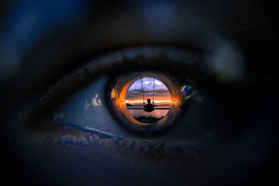
[[[45,137],[42,135],[40,139],[51,141],[50,143],[47,142],[47,144],[52,144],[57,148],[84,146],[91,150],[96,148],[104,150],[103,153],[106,155],[133,156],[133,158],[138,156],[138,158],[147,158],[154,162],[160,162],[160,160],[165,159],[169,161],[179,160],[181,164],[186,163],[187,166],[194,167],[202,166],[204,159],[212,154],[210,146],[205,146],[202,140],[167,143],[149,139],[132,139],[107,134],[107,132],[83,130],[79,127],[68,125],[59,127]],[[206,139],[206,141],[209,141],[209,139]],[[36,144],[36,142],[33,143]],[[43,143],[43,141],[40,141],[40,143]]]

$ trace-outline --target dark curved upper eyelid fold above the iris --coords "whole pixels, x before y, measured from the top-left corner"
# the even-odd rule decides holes
[[[206,70],[204,56],[198,52],[176,49],[174,47],[137,47],[123,49],[100,56],[86,63],[81,68],[73,70],[54,84],[54,86],[47,91],[47,96],[59,91],[59,89],[63,89],[61,86],[67,86],[69,82],[73,83],[73,79],[76,80],[77,85],[81,82],[91,82],[93,79],[103,76],[103,69],[107,71],[116,70],[115,67],[119,67],[119,65],[128,65],[127,63],[139,66],[162,65],[161,61],[158,61],[158,59],[165,59],[165,61],[168,61],[166,65],[172,65],[173,63],[181,65],[187,64],[195,66],[195,68],[199,70]],[[167,66],[167,68],[172,67]]]

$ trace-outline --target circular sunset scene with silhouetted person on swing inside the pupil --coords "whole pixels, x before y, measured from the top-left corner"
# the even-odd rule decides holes
[[[155,77],[137,79],[126,93],[126,106],[141,123],[156,123],[169,111],[171,98],[165,84]]]

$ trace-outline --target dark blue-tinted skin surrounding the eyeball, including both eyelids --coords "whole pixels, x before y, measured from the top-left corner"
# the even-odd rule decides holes
[[[0,183],[278,183],[273,3],[2,4]],[[51,121],[56,105],[98,79],[150,69],[202,94],[169,132],[133,134],[114,116],[107,125],[121,134]]]

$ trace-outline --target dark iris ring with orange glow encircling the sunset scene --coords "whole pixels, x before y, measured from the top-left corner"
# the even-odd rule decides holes
[[[169,111],[166,116],[156,123],[141,123],[137,121],[129,113],[126,107],[126,93],[132,84],[135,81],[140,79],[140,77],[154,77],[160,82],[165,84],[170,95],[171,95],[171,104]],[[112,112],[114,116],[118,119],[119,123],[124,127],[128,128],[132,132],[139,134],[155,134],[162,132],[163,130],[171,127],[176,121],[176,118],[181,114],[183,106],[183,95],[181,93],[181,85],[178,83],[178,79],[175,77],[168,77],[161,72],[133,72],[125,73],[116,77],[115,83],[111,88],[111,91],[114,91],[114,96],[110,98],[110,105],[112,106]]]

